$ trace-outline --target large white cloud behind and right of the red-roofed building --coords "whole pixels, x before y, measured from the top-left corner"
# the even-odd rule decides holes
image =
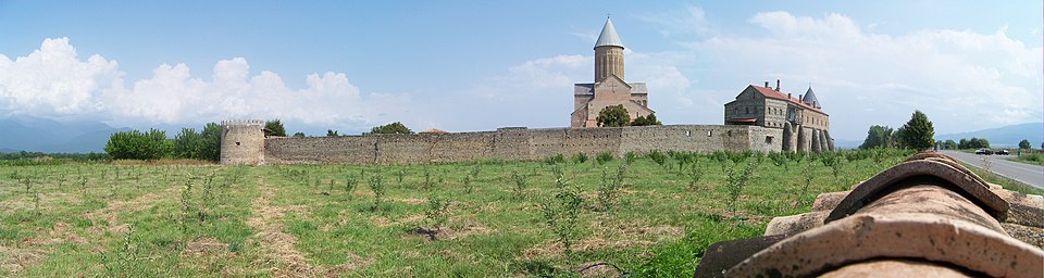
[[[913,110],[925,112],[937,132],[1044,118],[1044,51],[1003,28],[885,35],[841,14],[787,12],[758,13],[749,23],[768,35],[721,35],[687,46],[711,59],[710,76],[734,83],[736,91],[741,84],[780,78],[801,93],[810,83],[843,138],[859,138],[870,125],[902,125]]]

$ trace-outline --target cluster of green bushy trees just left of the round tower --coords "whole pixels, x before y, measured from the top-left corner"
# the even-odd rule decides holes
[[[209,123],[202,131],[182,128],[173,139],[156,128],[120,131],[109,136],[105,153],[114,160],[189,159],[217,161],[221,156],[221,126]]]

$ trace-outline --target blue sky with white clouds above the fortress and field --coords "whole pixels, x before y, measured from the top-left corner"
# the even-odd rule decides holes
[[[0,117],[359,132],[567,126],[612,16],[664,124],[720,124],[746,85],[809,85],[832,134],[1044,121],[1041,2],[4,1]],[[873,116],[870,116],[873,115]]]

